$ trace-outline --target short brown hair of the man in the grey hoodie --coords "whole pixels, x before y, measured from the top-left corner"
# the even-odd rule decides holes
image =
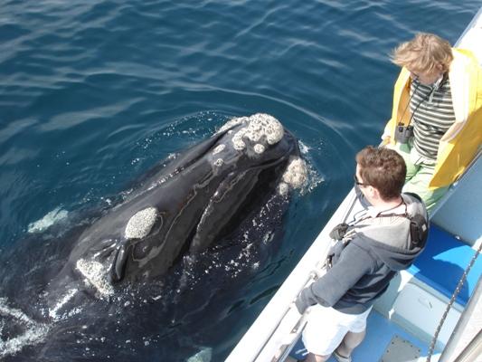
[[[375,187],[383,200],[400,196],[407,167],[396,151],[368,146],[356,154],[356,162],[364,184]]]

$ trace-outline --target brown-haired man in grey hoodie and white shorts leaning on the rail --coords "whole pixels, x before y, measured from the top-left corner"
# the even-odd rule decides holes
[[[356,162],[357,202],[364,198],[370,205],[330,233],[338,241],[329,252],[326,274],[296,300],[300,313],[313,306],[303,331],[309,362],[326,361],[332,353],[338,361],[351,361],[364,339],[373,301],[397,271],[411,265],[427,238],[424,205],[418,196],[401,194],[403,158],[390,148],[367,147]]]

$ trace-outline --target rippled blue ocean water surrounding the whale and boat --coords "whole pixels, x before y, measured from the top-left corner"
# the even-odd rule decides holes
[[[13,310],[42,329],[34,307],[20,307],[41,291],[10,292],[12,283],[29,282],[18,263],[48,262],[36,254],[42,240],[33,235],[85,222],[82,211],[115,204],[159,160],[232,117],[264,112],[296,135],[310,167],[309,185],[289,206],[269,256],[241,265],[250,270],[244,278],[197,281],[197,296],[212,289],[222,298],[176,300],[159,317],[162,328],[152,320],[138,340],[109,319],[99,319],[109,335],[96,319],[98,333],[75,323],[61,329],[72,336],[66,347],[79,345],[69,360],[181,361],[201,350],[213,361],[227,357],[350,189],[355,153],[379,142],[398,73],[389,52],[420,31],[455,43],[479,6],[0,0],[0,251],[13,255],[0,258],[0,332]],[[120,314],[118,324],[142,333],[146,310],[126,315],[129,322]],[[62,340],[61,332],[52,338]],[[67,353],[45,349],[42,338],[21,343],[7,354],[12,347],[2,339],[0,358],[33,360],[42,348],[45,360]]]

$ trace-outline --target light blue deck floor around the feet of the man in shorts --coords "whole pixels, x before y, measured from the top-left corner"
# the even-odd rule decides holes
[[[353,360],[356,362],[373,362],[378,361],[383,356],[388,344],[393,337],[399,336],[411,342],[411,344],[421,349],[421,356],[427,356],[428,346],[420,339],[413,337],[411,334],[401,329],[395,323],[373,310],[368,316],[366,337],[358,348],[354,350]],[[307,349],[299,338],[295,348],[291,351],[290,356],[297,359],[306,357]],[[328,362],[336,362],[334,357],[330,357]]]

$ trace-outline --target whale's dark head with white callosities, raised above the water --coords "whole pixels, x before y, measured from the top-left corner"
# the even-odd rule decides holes
[[[306,176],[298,141],[278,119],[231,119],[85,230],[67,268],[112,295],[118,283],[163,275],[185,252],[203,252],[266,197],[288,197]]]

